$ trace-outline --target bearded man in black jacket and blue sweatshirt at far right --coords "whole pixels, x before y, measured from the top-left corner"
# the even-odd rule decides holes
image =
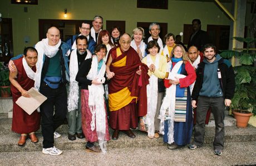
[[[206,44],[203,48],[204,60],[196,70],[196,81],[192,92],[192,107],[196,107],[194,142],[189,146],[196,149],[203,145],[206,113],[209,107],[214,115],[214,154],[221,155],[224,148],[225,106],[229,107],[234,95],[234,70],[230,62],[216,54],[216,46]]]

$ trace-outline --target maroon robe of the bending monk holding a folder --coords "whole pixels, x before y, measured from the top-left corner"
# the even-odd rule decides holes
[[[13,60],[13,63],[18,70],[16,81],[24,90],[28,91],[34,86],[35,81],[29,79],[27,76],[26,71],[23,68],[22,59],[23,58]],[[34,66],[32,70],[36,71],[36,66]],[[16,104],[16,101],[21,96],[21,92],[19,92],[13,85],[11,85],[11,91],[13,98],[12,131],[16,133],[31,133],[37,131],[40,127],[40,113],[34,111],[31,115],[28,115],[27,112],[22,110],[22,108]]]

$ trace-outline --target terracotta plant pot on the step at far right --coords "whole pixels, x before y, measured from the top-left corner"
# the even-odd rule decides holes
[[[234,117],[237,120],[237,127],[247,127],[250,117],[253,115],[252,112],[249,111],[233,111]]]

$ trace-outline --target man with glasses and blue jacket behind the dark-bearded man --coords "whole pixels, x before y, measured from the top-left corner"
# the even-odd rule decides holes
[[[91,32],[91,25],[90,23],[83,21],[79,27],[80,34],[78,35],[73,35],[71,39],[67,40],[67,44],[70,45],[71,50],[76,48],[76,37],[80,35],[84,35],[87,38],[87,49],[93,54],[94,53],[94,48],[96,45],[96,42],[93,40],[93,38],[90,35]]]

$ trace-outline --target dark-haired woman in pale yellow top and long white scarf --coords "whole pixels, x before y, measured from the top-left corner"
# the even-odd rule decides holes
[[[151,40],[147,43],[147,56],[142,59],[142,63],[149,67],[147,74],[150,79],[147,85],[147,115],[143,119],[140,118],[140,127],[143,126],[143,123],[146,124],[147,129],[144,127],[144,131],[147,131],[147,136],[151,139],[154,137],[159,138],[160,121],[157,116],[164,97],[164,90],[160,91],[159,80],[163,81],[165,78],[167,65],[165,57],[160,55],[159,51],[160,46],[158,43],[155,40]]]

